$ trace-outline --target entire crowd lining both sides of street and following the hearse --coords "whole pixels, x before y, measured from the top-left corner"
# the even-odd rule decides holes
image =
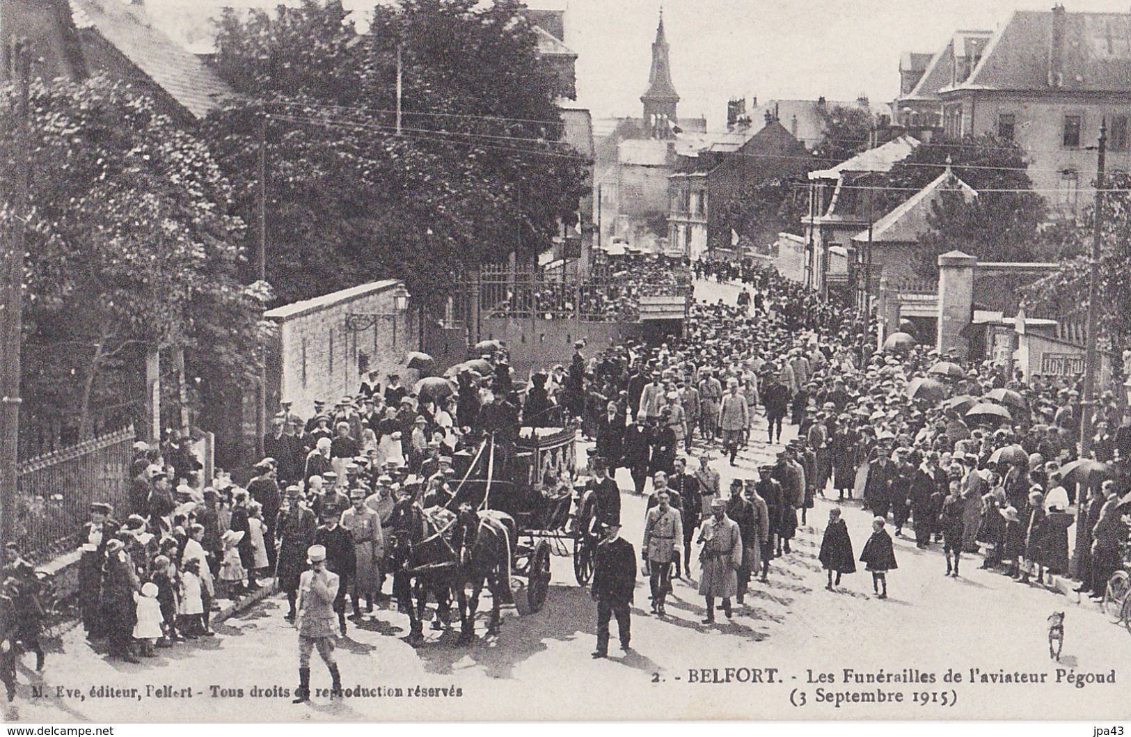
[[[648,260],[624,266],[629,281],[641,284],[664,271]],[[487,435],[512,442],[523,426],[573,420],[594,441],[587,488],[607,538],[592,589],[598,657],[607,654],[612,616],[622,645],[629,642],[636,565],[625,553],[636,552],[619,538],[620,492],[610,474],[620,468],[636,494],[650,483],[640,554],[658,616],[666,616],[673,576],[690,578],[697,547],[705,623],[715,621],[716,602],[733,616],[771,562],[793,554],[814,500],[834,495],[840,504],[819,556],[831,590],[858,560],[875,595],[887,597],[887,572],[897,567],[891,527],[921,548],[941,543],[950,576],[960,575],[964,554],[979,554],[982,567],[1047,584],[1074,557],[1080,589],[1102,595],[1128,536],[1120,494],[1131,423],[1114,393],[1091,407],[1096,463],[1086,475],[1070,466],[1085,410],[1074,379],[1025,382],[1004,366],[947,361],[953,356],[918,346],[877,352],[872,322],[772,270],[703,262],[697,270],[739,280],[740,298],[693,305],[685,333],[661,345],[629,340],[587,356],[578,341],[568,366],[535,371],[528,381],[500,347],[428,391],[414,392],[398,375],[382,387],[373,373],[355,396],[333,407],[319,402],[311,417],[284,404],[243,486],[221,472],[198,488],[199,463],[184,439],[139,443],[131,509],[119,522],[109,504],[93,504],[80,531],[79,598],[90,641],[136,661],[154,648],[209,636],[217,598],[244,596],[274,576],[287,596],[287,618],[317,632],[301,666],[308,693],[314,648],[337,684],[333,643],[323,641],[335,630],[346,633],[347,599],[361,616],[383,598],[394,508],[451,500],[454,456]],[[967,414],[987,397],[999,409]],[[753,432],[760,413],[765,436]],[[796,428],[784,445],[783,424]],[[715,453],[736,466],[743,449],[770,446],[775,462],[740,470],[720,487]],[[857,506],[873,528],[860,558],[841,519]],[[8,605],[12,610],[26,608],[29,590],[19,583],[27,574],[16,570],[18,553],[0,598],[21,602]],[[320,573],[308,575],[308,566]],[[328,608],[311,630],[304,602],[316,601]],[[34,616],[12,617],[6,621],[18,619],[23,634],[9,636],[34,650]]]

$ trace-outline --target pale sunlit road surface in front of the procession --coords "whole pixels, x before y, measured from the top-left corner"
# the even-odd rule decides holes
[[[714,294],[710,285],[707,294]],[[765,432],[759,418],[756,435]],[[792,436],[788,428],[786,440]],[[767,462],[778,446],[757,444],[740,457],[736,468],[719,462],[725,484],[750,475]],[[582,448],[585,450],[585,448]],[[644,501],[631,492],[622,471],[623,535],[639,547]],[[647,581],[637,586],[633,645],[623,654],[615,648],[608,660],[594,661],[594,606],[573,581],[568,557],[554,557],[553,581],[546,607],[538,614],[506,614],[498,639],[480,639],[459,648],[454,633],[426,632],[425,644],[414,650],[404,640],[406,617],[379,610],[351,630],[338,647],[348,687],[400,688],[402,695],[361,695],[331,703],[317,696],[310,705],[292,705],[290,697],[253,696],[293,690],[296,682],[295,631],[283,621],[285,602],[278,598],[228,621],[219,636],[208,642],[161,651],[140,666],[105,661],[93,653],[76,632],[62,643],[66,654],[49,653],[42,685],[44,696],[29,700],[34,674],[21,669],[19,696],[7,718],[21,721],[159,719],[187,721],[231,720],[343,720],[343,719],[947,719],[972,718],[1122,718],[1131,717],[1126,678],[1131,677],[1131,635],[1100,614],[1074,607],[1064,597],[1021,586],[970,562],[964,578],[943,576],[939,549],[918,550],[908,540],[896,540],[899,569],[889,576],[890,597],[871,596],[871,579],[863,571],[845,579],[844,590],[824,590],[824,574],[815,560],[829,502],[818,500],[809,524],[798,530],[794,553],[774,562],[769,582],[756,584],[749,608],[733,622],[720,616],[715,626],[702,626],[702,600],[693,584],[675,582],[668,617],[647,616]],[[857,555],[870,532],[871,515],[844,509]],[[692,575],[697,573],[693,566]],[[521,597],[521,592],[519,592]],[[1063,656],[1048,659],[1046,617],[1068,610]],[[481,625],[482,634],[482,625]],[[31,659],[27,660],[31,662]],[[702,669],[708,669],[706,673]],[[725,680],[734,668],[732,683]],[[762,669],[761,684],[737,683]],[[767,684],[768,669],[774,679]],[[933,684],[901,682],[845,683],[845,668],[857,674],[930,674]],[[970,669],[987,675],[987,683],[970,684]],[[1057,668],[1063,669],[1057,683]],[[717,669],[717,671],[715,670]],[[751,670],[743,670],[751,669]],[[944,680],[948,669],[961,683]],[[1078,688],[1069,674],[1110,674],[1117,683],[1089,683]],[[812,673],[810,673],[812,671]],[[328,687],[329,677],[317,661],[313,685]],[[831,683],[809,683],[826,676]],[[1045,683],[1011,683],[1020,676]],[[993,678],[988,678],[992,675]],[[881,678],[888,676],[881,675]],[[146,686],[188,688],[189,699],[144,695]],[[92,686],[138,688],[139,699],[92,695]],[[242,696],[213,696],[211,687]],[[415,695],[415,687],[435,690]],[[59,688],[81,695],[68,695]],[[448,688],[461,695],[443,695]],[[883,703],[818,701],[824,694],[877,690]],[[217,692],[218,693],[218,692]],[[904,700],[893,702],[895,694]],[[926,693],[936,700],[912,701]],[[412,694],[412,695],[405,695]],[[804,694],[804,705],[800,703]],[[942,705],[957,694],[956,706]]]

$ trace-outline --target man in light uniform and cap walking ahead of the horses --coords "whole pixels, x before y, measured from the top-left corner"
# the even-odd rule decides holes
[[[330,671],[330,699],[342,695],[342,674],[334,659],[334,601],[338,596],[338,575],[326,567],[326,548],[311,545],[307,550],[310,570],[299,580],[299,688],[294,703],[310,701],[310,654],[317,649]]]

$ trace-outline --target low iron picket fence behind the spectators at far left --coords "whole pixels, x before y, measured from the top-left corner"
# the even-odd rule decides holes
[[[133,440],[129,426],[23,461],[14,519],[21,549],[44,560],[76,546],[93,502],[112,504],[119,519],[129,514]]]

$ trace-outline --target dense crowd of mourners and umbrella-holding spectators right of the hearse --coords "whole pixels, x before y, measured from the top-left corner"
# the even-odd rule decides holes
[[[757,572],[765,580],[769,562],[789,554],[814,498],[834,494],[843,504],[819,556],[830,589],[856,570],[840,506],[858,506],[873,517],[858,561],[878,597],[887,598],[887,572],[897,567],[889,527],[896,537],[914,535],[921,548],[941,543],[949,576],[960,575],[964,554],[978,554],[983,569],[1048,586],[1074,558],[1079,590],[1103,595],[1121,564],[1131,511],[1120,496],[1131,470],[1131,423],[1121,419],[1114,392],[1091,408],[1087,460],[1096,463],[1076,468],[1086,409],[1076,378],[1025,382],[992,362],[959,365],[920,346],[877,352],[874,326],[770,270],[699,270],[739,280],[737,303],[699,304],[684,339],[614,346],[587,376],[588,390],[608,399],[604,416],[589,419],[595,453],[614,470],[628,468],[637,493],[651,479],[641,554],[654,613],[664,614],[671,570],[681,575],[681,562],[687,570],[694,540],[705,623],[714,621],[716,599],[729,615],[731,597],[741,604]],[[994,400],[991,414],[967,414],[983,400]],[[768,420],[763,439],[751,436],[757,411]],[[736,450],[779,444],[783,422],[797,432],[776,462],[722,494],[711,451],[734,465]],[[697,449],[698,463],[684,459]],[[657,546],[654,529],[673,544]],[[733,562],[733,576],[726,566],[719,575],[713,562],[720,558]],[[604,642],[607,649],[607,635]]]

